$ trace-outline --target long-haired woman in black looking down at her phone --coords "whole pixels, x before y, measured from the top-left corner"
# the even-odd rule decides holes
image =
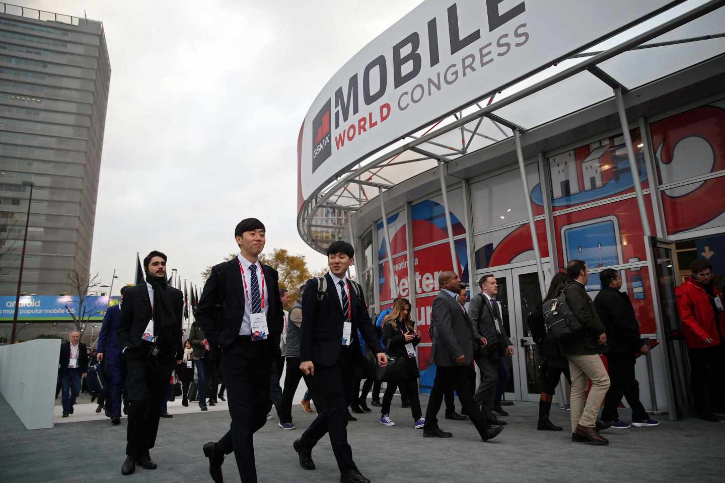
[[[410,400],[413,413],[413,427],[420,429],[425,424],[418,399],[418,361],[415,360],[415,346],[421,342],[421,332],[415,331],[415,322],[410,319],[410,302],[404,298],[395,301],[392,311],[383,321],[383,343],[389,357],[405,360],[405,378],[387,380],[383,395],[380,424],[394,426],[390,419],[390,403],[397,388],[402,398]]]

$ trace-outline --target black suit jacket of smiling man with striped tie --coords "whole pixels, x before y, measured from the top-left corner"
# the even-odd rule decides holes
[[[279,274],[268,265],[262,265],[267,287],[267,327],[270,349],[279,352],[279,339],[284,327],[284,311],[279,296]],[[212,267],[204,284],[202,297],[196,306],[196,324],[202,327],[212,345],[226,348],[233,343],[244,319],[244,282],[241,280],[239,261],[235,258]],[[218,307],[220,305],[220,307]]]

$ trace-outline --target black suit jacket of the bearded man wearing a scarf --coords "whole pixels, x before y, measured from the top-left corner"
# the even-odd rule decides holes
[[[178,288],[167,287],[164,295],[174,311],[174,347],[176,358],[181,359],[183,354],[183,343],[181,342],[181,319],[183,318],[183,293]],[[141,340],[146,330],[146,325],[151,320],[151,299],[146,282],[130,287],[125,292],[123,304],[121,304],[121,320],[118,324],[117,340],[118,347],[123,351],[125,348],[139,348],[147,345]]]

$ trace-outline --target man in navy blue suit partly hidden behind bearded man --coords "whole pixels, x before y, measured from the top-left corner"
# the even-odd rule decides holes
[[[118,326],[121,323],[121,304],[123,295],[128,287],[121,287],[121,301],[110,306],[103,316],[101,333],[98,336],[96,360],[106,360],[106,375],[109,383],[109,396],[111,403],[111,424],[121,422],[121,350],[118,347]],[[108,402],[106,403],[108,408]]]

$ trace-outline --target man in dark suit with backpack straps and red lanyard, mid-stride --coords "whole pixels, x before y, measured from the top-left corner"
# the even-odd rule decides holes
[[[352,448],[347,443],[349,392],[345,380],[352,380],[355,376],[353,357],[355,351],[360,351],[357,331],[360,330],[368,348],[376,354],[378,364],[385,366],[387,358],[370,322],[363,288],[346,276],[354,255],[355,251],[349,243],[332,243],[327,250],[330,272],[324,277],[326,290],[322,292],[321,280],[314,278],[305,285],[299,347],[299,360],[302,363],[299,369],[305,375],[315,376],[327,407],[312,421],[302,437],[294,442],[294,450],[299,455],[302,468],[315,469],[312,448],[329,433],[340,470],[340,482],[370,483],[357,470],[355,461],[352,461]]]

